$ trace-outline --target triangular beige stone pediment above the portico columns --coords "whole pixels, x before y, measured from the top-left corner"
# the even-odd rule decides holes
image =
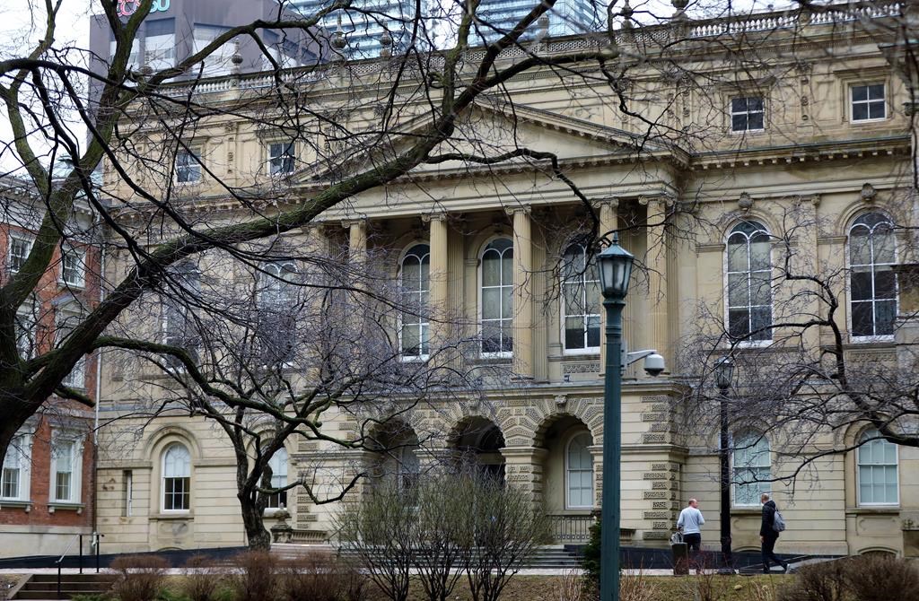
[[[340,161],[327,160],[308,166],[296,174],[294,180],[308,184],[311,181],[334,178],[330,165],[335,167],[335,173],[340,176],[343,172],[357,173],[374,164],[383,164],[424,135],[430,122],[430,115],[427,114],[406,119],[392,128],[390,136],[381,137],[371,152],[344,148],[340,151]],[[498,163],[488,162],[488,159],[519,152],[520,149],[532,151],[532,155],[505,156]],[[445,160],[420,164],[412,174],[433,176],[437,173],[447,175],[458,170],[520,168],[547,160],[548,157],[543,157],[543,153],[550,153],[560,163],[565,163],[602,161],[605,158],[628,161],[637,158],[640,152],[670,153],[669,149],[653,146],[634,133],[597,125],[588,120],[523,105],[494,107],[478,103],[458,120],[453,137],[431,153]]]

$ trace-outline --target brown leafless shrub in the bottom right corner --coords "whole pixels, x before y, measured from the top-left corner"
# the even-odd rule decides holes
[[[858,601],[919,601],[919,568],[889,555],[864,555],[845,563],[848,588]]]

